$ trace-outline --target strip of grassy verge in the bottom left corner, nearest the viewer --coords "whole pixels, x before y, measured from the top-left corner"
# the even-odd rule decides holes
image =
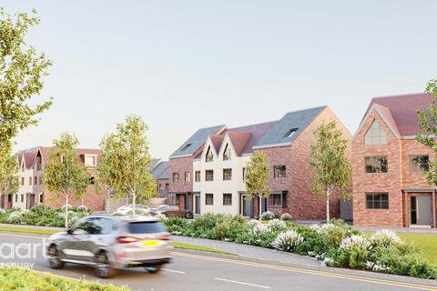
[[[83,280],[39,273],[16,267],[0,267],[0,286],[2,291],[44,290],[44,291],[128,291],[127,287],[102,285]]]

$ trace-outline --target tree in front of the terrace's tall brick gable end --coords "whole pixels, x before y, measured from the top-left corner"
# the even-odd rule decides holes
[[[344,138],[335,121],[323,123],[314,132],[316,143],[310,147],[310,166],[314,176],[310,188],[314,194],[326,199],[326,220],[330,220],[330,196],[349,198],[351,164],[346,151],[348,139]]]

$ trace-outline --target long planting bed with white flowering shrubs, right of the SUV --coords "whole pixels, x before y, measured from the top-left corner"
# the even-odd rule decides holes
[[[437,278],[437,266],[431,265],[412,242],[401,240],[389,230],[364,236],[361,231],[340,220],[318,226],[298,226],[288,219],[248,221],[242,216],[216,214],[206,214],[193,220],[173,217],[163,221],[168,231],[176,236],[276,248],[315,257],[327,266]]]

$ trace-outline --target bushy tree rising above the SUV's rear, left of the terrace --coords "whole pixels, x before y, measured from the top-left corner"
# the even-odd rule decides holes
[[[117,124],[117,133],[106,135],[100,143],[99,179],[107,189],[115,190],[113,197],[132,196],[134,214],[137,197],[157,195],[155,178],[148,170],[152,158],[147,130],[141,117],[129,115],[124,124]]]

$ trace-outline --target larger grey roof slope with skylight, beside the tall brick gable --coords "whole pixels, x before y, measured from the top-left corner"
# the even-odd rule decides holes
[[[308,125],[320,115],[326,106],[320,106],[284,115],[268,132],[254,145],[254,148],[266,146],[290,145]],[[287,134],[295,130],[294,132]]]

